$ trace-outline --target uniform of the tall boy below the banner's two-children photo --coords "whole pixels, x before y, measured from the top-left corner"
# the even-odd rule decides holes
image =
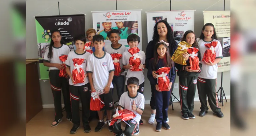
[[[111,54],[111,53],[120,53],[124,54],[124,52],[127,50],[127,48],[123,45],[121,45],[119,48],[113,48],[112,44],[105,46],[105,52]],[[122,58],[119,59],[121,70],[123,69],[123,63]],[[121,73],[119,76],[114,75],[112,84],[116,84],[116,91],[118,100],[120,100],[121,95],[124,92],[124,85],[125,85],[125,72]],[[113,91],[112,91],[113,92]]]

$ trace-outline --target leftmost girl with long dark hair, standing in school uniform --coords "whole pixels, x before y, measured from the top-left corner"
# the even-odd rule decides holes
[[[69,96],[69,83],[67,77],[59,77],[60,69],[65,67],[59,59],[59,56],[68,55],[70,49],[67,45],[63,45],[61,41],[61,34],[59,30],[51,31],[51,43],[46,47],[44,53],[44,66],[49,67],[49,79],[51,89],[53,93],[54,107],[55,107],[55,120],[52,123],[52,127],[55,127],[62,121],[62,108],[61,108],[61,90],[63,95],[63,101],[67,112],[67,119],[72,120],[70,96]]]

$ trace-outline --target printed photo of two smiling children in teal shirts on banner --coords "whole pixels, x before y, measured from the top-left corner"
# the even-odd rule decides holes
[[[138,35],[138,21],[97,22],[97,34],[102,35],[105,40],[109,39],[108,32],[112,29],[121,32],[121,39],[127,39],[130,34]]]

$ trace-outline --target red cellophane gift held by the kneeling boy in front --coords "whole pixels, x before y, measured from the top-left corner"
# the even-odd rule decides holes
[[[133,119],[134,117],[136,117],[136,115],[132,111],[129,111],[128,109],[118,111],[116,108],[116,114],[113,115],[112,120],[109,122],[109,126],[113,125],[115,122],[119,123],[121,120],[125,122],[127,120]]]

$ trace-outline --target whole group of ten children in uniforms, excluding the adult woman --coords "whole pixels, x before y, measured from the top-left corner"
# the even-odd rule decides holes
[[[131,71],[133,66],[130,65],[129,59],[134,56],[131,55],[126,47],[119,44],[120,31],[111,30],[108,32],[109,40],[111,45],[105,45],[104,37],[102,35],[96,35],[94,29],[89,29],[86,32],[87,39],[91,42],[91,49],[93,53],[86,52],[85,36],[79,35],[74,38],[76,50],[69,51],[69,47],[61,43],[60,31],[52,31],[51,44],[46,48],[44,54],[44,65],[49,67],[49,79],[54,97],[55,105],[55,120],[52,126],[55,127],[62,121],[61,113],[61,89],[63,91],[64,104],[67,111],[67,119],[72,121],[73,127],[70,131],[71,134],[77,132],[80,126],[79,116],[79,101],[82,102],[82,122],[84,126],[84,132],[89,133],[91,128],[89,126],[90,116],[90,98],[91,92],[97,90],[102,92],[100,99],[104,102],[104,107],[101,111],[98,111],[99,122],[95,128],[96,132],[100,132],[105,125],[104,112],[106,110],[107,119],[109,122],[112,119],[112,111],[114,109],[113,103],[113,88],[116,84],[116,90],[118,95],[118,110],[128,109],[132,111],[136,117],[126,121],[127,124],[125,131],[121,129],[120,123],[115,122],[114,125],[108,126],[109,131],[113,131],[118,136],[138,135],[139,125],[143,124],[141,115],[144,111],[144,74],[143,71]],[[192,47],[199,48],[198,57],[203,57],[204,51],[207,49],[204,44],[211,43],[216,40],[216,33],[213,24],[207,23],[202,29],[200,38],[195,41],[195,33],[193,31],[187,31],[184,34],[182,41],[186,41]],[[140,37],[136,34],[131,34],[127,37],[127,43],[130,48],[138,47],[140,43]],[[180,99],[183,119],[194,119],[195,116],[192,114],[194,109],[194,97],[196,91],[196,85],[198,87],[199,99],[201,102],[201,112],[199,116],[204,116],[207,111],[207,100],[210,107],[218,117],[223,117],[221,109],[217,105],[216,100],[216,78],[217,78],[217,63],[222,58],[222,48],[218,41],[218,45],[215,48],[216,58],[214,63],[212,62],[200,62],[200,68],[198,70],[190,70],[189,65],[182,66],[174,64],[169,53],[169,44],[166,41],[159,41],[155,45],[154,58],[150,60],[147,78],[150,83],[155,86],[155,103],[156,103],[156,131],[161,131],[163,126],[166,130],[170,129],[168,125],[168,107],[169,98],[171,93],[171,87],[174,81],[170,81],[167,90],[160,90],[158,86],[156,71],[162,67],[169,67],[170,72],[167,77],[175,76],[175,67],[178,69],[177,74],[179,75],[180,82]],[[112,56],[113,53],[122,54],[117,62],[120,63],[120,72],[114,75],[115,67],[113,64]],[[66,64],[66,77],[59,77],[58,73],[60,69],[65,69],[65,66],[59,60],[59,56],[68,55]],[[139,51],[137,54],[140,58],[141,64],[139,69],[145,68],[145,53]],[[72,71],[76,67],[73,65],[74,58],[84,58],[84,62],[80,68],[85,72],[84,83],[74,83]],[[189,63],[187,63],[189,64]],[[174,67],[175,66],[175,67]],[[125,71],[127,72],[125,74]],[[67,81],[69,78],[69,81]],[[197,82],[199,81],[199,82]],[[126,92],[124,92],[124,85],[126,85]],[[71,108],[72,107],[72,108]]]

